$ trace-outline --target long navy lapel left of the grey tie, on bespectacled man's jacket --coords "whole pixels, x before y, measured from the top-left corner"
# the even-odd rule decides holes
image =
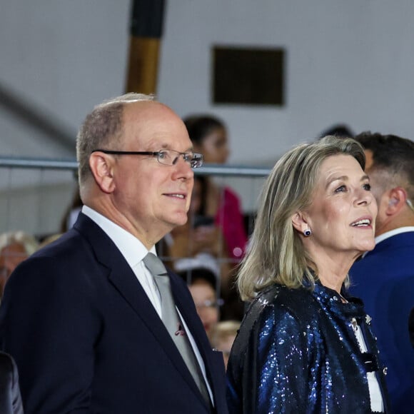
[[[106,233],[94,223],[94,221],[83,213],[79,214],[78,221],[76,221],[74,228],[89,241],[91,248],[96,254],[97,260],[108,268],[108,280],[113,285],[114,289],[116,289],[129,306],[131,306],[138,318],[141,318],[148,328],[148,331],[161,344],[161,348],[166,352],[168,358],[171,359],[178,372],[183,375],[183,378],[190,388],[192,388],[193,391],[199,395],[200,399],[203,400],[190,371],[186,367],[171,336],[143,290],[141,283],[139,283],[121,252],[113,241],[111,241],[111,238],[109,238]],[[176,295],[174,295],[174,297],[176,298]],[[180,308],[179,305],[178,307]],[[183,315],[183,317],[188,320],[187,313],[186,316]],[[203,359],[205,359],[204,356]]]

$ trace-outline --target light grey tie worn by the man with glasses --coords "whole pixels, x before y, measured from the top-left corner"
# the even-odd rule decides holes
[[[153,253],[148,253],[145,258],[143,258],[143,263],[145,263],[145,266],[152,273],[156,281],[156,285],[158,286],[158,291],[161,295],[163,323],[181,353],[188,370],[196,381],[203,398],[206,400],[208,405],[210,405],[211,401],[206,388],[206,383],[204,382],[203,373],[201,372],[200,365],[198,365],[198,361],[196,360],[196,355],[194,355],[193,348],[191,348],[191,343],[188,340],[188,336],[184,331],[178,315],[173,295],[171,293],[170,278],[168,277],[166,268],[161,260]]]

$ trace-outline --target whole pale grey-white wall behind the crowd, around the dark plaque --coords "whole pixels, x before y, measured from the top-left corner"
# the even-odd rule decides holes
[[[74,134],[95,104],[123,93],[130,1],[0,1],[0,84]],[[231,163],[273,162],[337,122],[413,138],[413,1],[166,4],[158,98],[180,116],[221,116]],[[286,106],[213,106],[213,45],[285,48]],[[4,108],[0,142],[0,156],[68,156]]]

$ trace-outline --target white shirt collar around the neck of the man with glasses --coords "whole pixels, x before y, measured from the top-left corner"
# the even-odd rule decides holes
[[[105,216],[102,216],[101,213],[88,206],[82,207],[82,213],[91,218],[111,238],[131,268],[136,266],[147,255],[148,250],[138,238]],[[156,255],[155,246],[150,249],[150,252]]]

